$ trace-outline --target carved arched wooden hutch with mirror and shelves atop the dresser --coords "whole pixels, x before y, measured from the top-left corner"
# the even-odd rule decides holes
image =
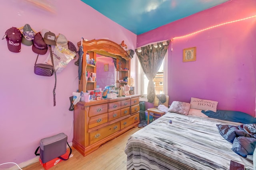
[[[113,84],[119,87],[127,84],[125,82],[120,82],[120,80],[122,80],[123,77],[130,77],[130,58],[128,53],[120,46],[120,44],[108,39],[92,39],[90,41],[79,41],[77,43],[78,47],[81,46],[81,43],[84,54],[82,60],[82,76],[78,84],[79,92],[94,90],[97,85],[99,85],[100,88],[104,88],[106,85]],[[87,63],[86,55],[89,55],[90,59],[96,61],[96,66]],[[116,63],[121,64],[116,64],[114,67],[114,59],[116,59]],[[101,60],[103,60],[102,66],[100,63]],[[104,64],[108,64],[108,71],[106,71],[106,69],[104,70]],[[96,81],[88,80],[86,72],[96,73]],[[105,73],[102,73],[101,75],[100,72],[108,73],[106,73],[106,75]]]

